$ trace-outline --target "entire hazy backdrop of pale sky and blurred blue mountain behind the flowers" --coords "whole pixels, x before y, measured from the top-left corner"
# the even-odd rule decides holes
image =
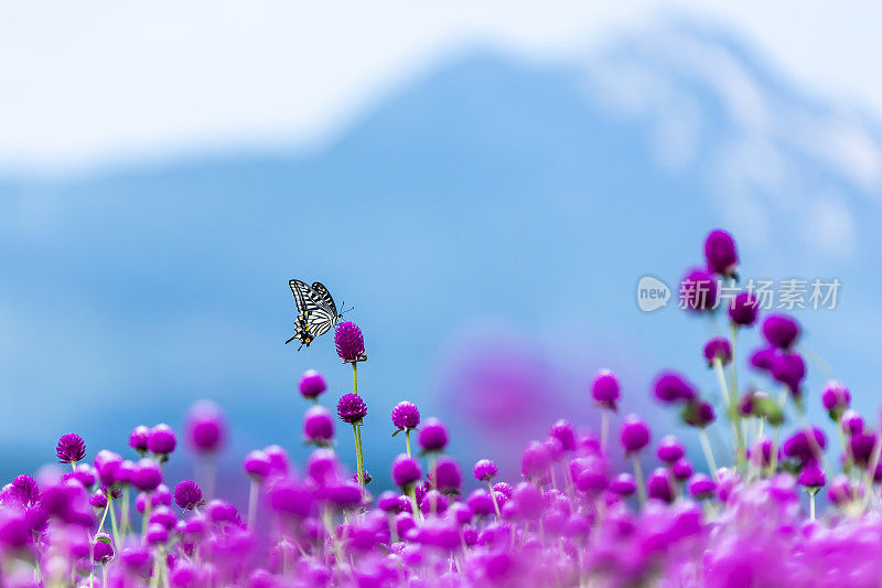
[[[636,282],[676,281],[717,226],[744,276],[841,280],[800,318],[875,421],[882,7],[534,4],[0,4],[4,478],[203,397],[232,467],[302,459],[300,374],[334,406],[351,371],[330,334],[282,344],[292,277],[356,307],[378,478],[400,399],[512,463],[558,416],[594,425],[603,366],[657,438],[653,375],[714,395],[714,331],[641,313]]]

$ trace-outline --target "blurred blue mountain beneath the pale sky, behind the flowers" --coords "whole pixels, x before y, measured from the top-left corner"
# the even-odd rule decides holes
[[[299,374],[326,374],[327,406],[351,374],[332,335],[282,344],[292,277],[355,304],[380,478],[402,398],[447,419],[451,449],[474,459],[516,457],[557,415],[590,425],[602,366],[622,374],[626,409],[648,405],[667,366],[712,394],[710,321],[644,314],[635,286],[674,285],[716,226],[739,238],[746,277],[842,281],[836,310],[798,314],[875,414],[881,146],[869,117],[807,95],[725,32],[673,23],[558,62],[463,52],[313,152],[9,178],[3,473],[50,461],[71,430],[90,455],[122,449],[135,425],[178,426],[202,397],[235,424],[233,462],[271,442],[302,458]],[[482,362],[501,384],[463,387]],[[824,374],[809,370],[819,415]]]

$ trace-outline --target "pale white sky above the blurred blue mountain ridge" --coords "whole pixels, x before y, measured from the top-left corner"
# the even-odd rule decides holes
[[[555,55],[600,42],[670,6],[6,2],[0,167],[58,169],[218,146],[314,141],[390,85],[464,44]],[[872,53],[868,47],[879,45],[874,19],[847,26],[843,14],[859,11],[820,0],[675,6],[743,31],[800,79],[840,88],[882,110],[882,64],[864,58]],[[813,51],[818,39],[828,41],[822,55]],[[752,113],[749,94],[731,95],[745,99],[735,106]],[[872,157],[865,150],[859,156],[862,173],[875,173]]]

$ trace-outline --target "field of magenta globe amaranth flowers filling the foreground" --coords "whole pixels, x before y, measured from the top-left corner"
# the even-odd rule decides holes
[[[690,279],[738,279],[731,235],[712,232],[704,256]],[[761,319],[750,297],[722,312],[698,300],[689,310],[728,322],[731,334],[695,350],[719,389],[666,370],[639,394],[675,409],[692,427],[687,436],[656,438],[650,419],[619,416],[633,399],[626,378],[601,370],[592,379],[585,370],[600,427],[558,420],[524,449],[519,475],[501,481],[496,463],[480,459],[465,479],[445,453],[464,441],[401,402],[390,416],[406,451],[384,468],[391,488],[375,494],[359,436],[367,408],[355,392],[364,338],[344,323],[336,346],[353,364],[354,392],[336,410],[354,425],[355,477],[334,450],[333,414],[318,403],[327,386],[314,371],[299,392],[315,403],[302,427],[316,447],[299,464],[279,446],[248,452],[246,514],[209,490],[207,466],[227,438],[216,405],[194,406],[185,421],[202,466],[195,480],[168,479],[163,464],[178,445],[168,425],[136,427],[128,456],[101,449],[90,461],[82,437],[68,434],[56,446],[63,469],[18,475],[0,491],[0,585],[878,586],[880,431],[839,381],[811,399],[792,317],[765,317],[762,344],[739,355],[736,336]],[[752,373],[739,379],[742,364]],[[836,427],[840,458],[806,423],[809,399]]]

